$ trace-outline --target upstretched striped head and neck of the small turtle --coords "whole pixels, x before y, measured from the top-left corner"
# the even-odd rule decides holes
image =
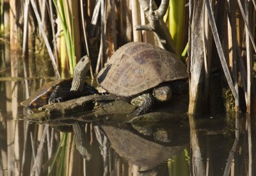
[[[84,79],[91,65],[91,61],[88,56],[83,56],[75,67],[74,77],[72,81],[72,87],[70,91],[82,90],[84,86]]]

